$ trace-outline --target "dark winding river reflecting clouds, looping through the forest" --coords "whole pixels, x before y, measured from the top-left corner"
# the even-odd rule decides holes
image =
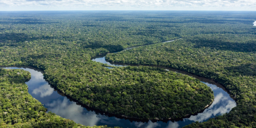
[[[131,48],[133,47],[123,49],[122,51]],[[138,66],[108,62],[105,60],[105,55],[96,56],[92,58],[92,60],[106,63],[110,66]],[[172,68],[162,66],[152,67],[164,68],[166,70],[196,77],[202,83],[207,84],[207,86],[209,86],[213,90],[215,97],[214,102],[201,113],[198,113],[197,115],[191,115],[190,117],[186,117],[183,119],[158,121],[119,118],[107,115],[91,108],[87,108],[83,105],[80,105],[79,103],[74,102],[72,99],[66,97],[65,95],[51,87],[51,85],[49,85],[48,82],[44,80],[43,73],[39,69],[35,69],[33,67],[8,67],[8,69],[24,69],[26,71],[29,71],[31,73],[31,80],[26,82],[26,84],[28,85],[28,92],[30,95],[32,95],[32,97],[39,100],[45,106],[45,108],[48,109],[48,112],[51,111],[63,118],[72,119],[76,123],[80,123],[85,126],[108,125],[109,127],[119,126],[123,128],[178,128],[189,125],[196,121],[204,122],[216,115],[228,113],[232,108],[236,106],[234,98],[232,98],[227,93],[222,85],[216,83],[213,80]],[[110,69],[111,67],[107,68]]]

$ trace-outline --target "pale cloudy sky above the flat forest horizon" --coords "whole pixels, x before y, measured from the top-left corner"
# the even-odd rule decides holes
[[[0,11],[43,10],[256,11],[256,0],[0,0]]]

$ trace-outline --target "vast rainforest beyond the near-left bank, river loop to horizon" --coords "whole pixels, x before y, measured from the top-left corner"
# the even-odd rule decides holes
[[[133,118],[168,119],[194,114],[211,103],[211,89],[195,78],[145,66],[108,69],[90,60],[126,47],[157,43],[106,58],[182,69],[222,83],[237,98],[238,106],[230,113],[187,127],[255,126],[252,12],[0,15],[0,65],[40,68],[49,83],[89,107]]]

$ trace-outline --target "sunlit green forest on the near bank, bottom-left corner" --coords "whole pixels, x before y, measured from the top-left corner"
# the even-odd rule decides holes
[[[34,99],[24,83],[30,79],[28,71],[0,69],[0,127],[24,128],[107,128],[85,127],[70,119],[61,118]]]

